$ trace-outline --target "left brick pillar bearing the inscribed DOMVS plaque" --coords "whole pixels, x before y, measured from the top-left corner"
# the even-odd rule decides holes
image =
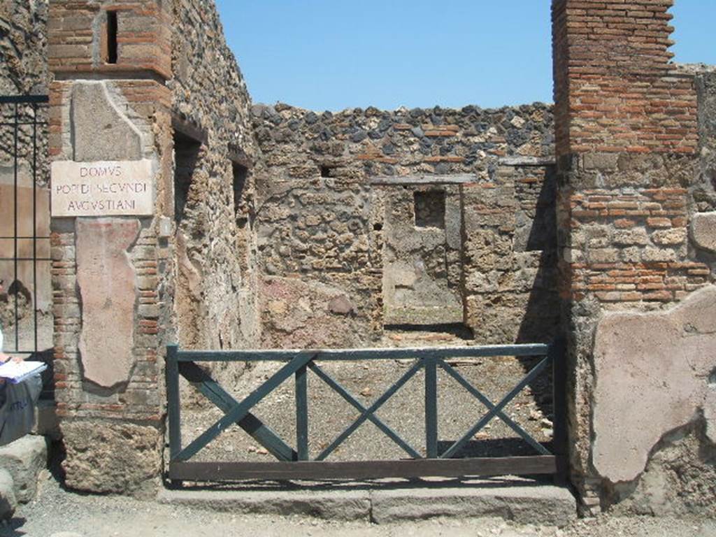
[[[113,188],[107,174],[117,165],[122,174],[115,184],[131,184],[139,168],[149,170],[150,181],[148,193],[130,196],[148,200],[148,211],[136,211],[131,200],[110,203],[108,190],[95,193],[95,202],[104,204],[94,207],[87,198],[78,196],[72,205],[72,195],[65,196],[62,214],[69,216],[58,216],[53,207],[57,408],[67,485],[80,490],[147,493],[160,475],[160,319],[170,304],[161,294],[170,264],[163,215],[173,211],[165,195],[172,180],[171,95],[165,85],[171,76],[171,5],[54,0],[50,7],[54,188],[60,180],[71,183],[72,174],[87,173],[77,171],[79,163],[100,170],[90,186]],[[59,203],[59,193],[54,195]]]

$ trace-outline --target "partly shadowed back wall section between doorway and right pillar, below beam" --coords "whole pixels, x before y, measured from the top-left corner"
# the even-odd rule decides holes
[[[465,323],[487,344],[552,342],[559,324],[553,165],[516,159],[463,192]]]

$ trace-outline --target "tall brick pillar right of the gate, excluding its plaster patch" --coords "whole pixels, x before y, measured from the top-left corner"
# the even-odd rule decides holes
[[[668,63],[672,4],[553,0],[552,6],[571,469],[592,509],[616,481],[600,475],[594,437],[604,439],[604,420],[624,417],[595,414],[599,320],[612,311],[667,310],[707,285],[709,274],[687,244],[697,95],[693,77]]]

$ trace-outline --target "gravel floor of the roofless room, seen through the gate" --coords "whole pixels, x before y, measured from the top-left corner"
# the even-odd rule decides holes
[[[392,332],[387,335],[384,347],[425,347],[464,345],[453,334]],[[371,362],[328,362],[319,364],[325,372],[342,384],[365,407],[387,390],[393,382],[412,366],[412,360],[373,360]],[[460,359],[455,369],[473,386],[497,403],[537,363],[537,359],[518,360],[514,357],[489,359]],[[246,397],[263,380],[279,369],[280,364],[261,363],[246,372],[243,364],[223,365],[219,373],[223,387],[240,400]],[[234,367],[232,372],[227,367]],[[243,374],[241,372],[243,371]],[[418,453],[425,454],[425,400],[424,373],[415,374],[383,407],[377,417],[394,429]],[[315,374],[309,372],[309,449],[311,457],[318,455],[340,432],[348,427],[359,413]],[[233,385],[232,385],[233,384]],[[210,405],[195,405],[199,398],[190,395],[188,383],[183,387],[185,400],[190,402],[182,411],[183,445],[193,440],[222,413]],[[295,445],[294,382],[284,382],[253,410],[254,414],[279,436]],[[505,413],[518,422],[533,437],[549,446],[552,430],[551,384],[546,374],[523,390]],[[485,407],[442,370],[438,370],[438,425],[440,449],[447,449],[462,437],[486,412]],[[500,420],[493,420],[478,432],[461,456],[534,455],[533,450],[513,430]],[[328,460],[386,460],[405,458],[406,454],[390,438],[370,422],[364,423],[344,442]],[[273,457],[248,437],[238,426],[233,426],[211,442],[193,458],[197,461],[235,460],[269,461]]]

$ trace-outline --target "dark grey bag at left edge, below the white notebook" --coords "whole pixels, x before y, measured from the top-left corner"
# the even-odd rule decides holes
[[[32,431],[35,405],[42,392],[42,377],[33,375],[19,384],[0,386],[0,445],[14,442]]]

